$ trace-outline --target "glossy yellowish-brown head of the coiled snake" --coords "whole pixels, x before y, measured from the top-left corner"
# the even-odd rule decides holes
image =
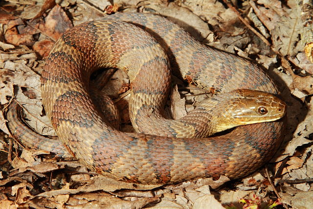
[[[219,131],[240,125],[275,121],[287,112],[286,103],[273,94],[246,89],[229,92],[224,104],[218,108],[221,109],[219,116],[216,116]]]

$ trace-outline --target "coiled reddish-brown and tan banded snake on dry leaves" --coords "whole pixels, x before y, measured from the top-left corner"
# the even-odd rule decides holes
[[[163,113],[171,86],[170,67],[188,83],[213,93],[211,101],[224,104],[220,116],[203,104],[181,119],[182,125],[171,125]],[[128,73],[130,117],[140,133],[117,130],[94,105],[89,78],[102,68]],[[153,14],[119,13],[68,29],[46,58],[41,91],[45,113],[60,140],[57,149],[66,148],[90,169],[122,181],[177,184],[222,175],[241,178],[268,162],[283,139],[284,121],[278,119],[285,115],[286,104],[274,96],[280,92],[264,70],[202,45],[177,24]],[[229,100],[232,95],[239,100]],[[250,104],[258,100],[257,106],[247,105],[245,96]],[[15,104],[11,109],[16,108]],[[268,114],[265,119],[247,116],[251,124],[241,121],[224,135],[198,134],[203,127],[212,129],[207,124],[214,118],[216,124],[224,123],[221,115],[241,119],[250,113]],[[195,125],[197,119],[200,125]],[[255,120],[262,123],[252,124]],[[28,133],[16,128],[19,123],[12,124],[12,133],[19,138]]]

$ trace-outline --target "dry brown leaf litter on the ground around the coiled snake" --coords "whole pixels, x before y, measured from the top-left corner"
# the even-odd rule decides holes
[[[286,3],[286,4],[285,4]],[[271,45],[216,0],[5,0],[0,3],[0,205],[4,208],[311,208],[313,204],[313,64],[300,42],[299,3],[242,1],[233,5]],[[178,23],[203,44],[252,59],[268,69],[288,104],[285,141],[267,167],[244,179],[199,179],[179,185],[139,185],[91,173],[73,159],[22,148],[10,138],[5,110],[14,97],[36,132],[55,136],[41,103],[40,74],[55,40],[72,25],[114,12],[148,12]],[[166,105],[179,118],[207,97],[178,79]],[[127,75],[117,70],[107,87],[123,130],[131,131]],[[280,198],[278,197],[280,195]],[[276,202],[275,202],[276,201]],[[278,201],[278,202],[277,202]]]

